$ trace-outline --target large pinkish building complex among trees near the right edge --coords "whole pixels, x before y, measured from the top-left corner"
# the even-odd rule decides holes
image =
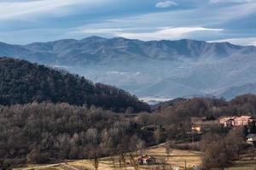
[[[256,119],[253,116],[224,116],[219,118],[219,123],[224,127],[241,127],[248,125]]]

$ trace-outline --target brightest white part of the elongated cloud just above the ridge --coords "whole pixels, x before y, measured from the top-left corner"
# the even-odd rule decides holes
[[[176,28],[161,28],[158,31],[153,32],[117,32],[117,36],[126,37],[126,38],[137,38],[142,40],[162,40],[162,39],[178,39],[185,38],[191,33],[195,32],[219,32],[223,31],[222,29],[212,29],[212,28],[204,28],[204,27],[176,27]]]

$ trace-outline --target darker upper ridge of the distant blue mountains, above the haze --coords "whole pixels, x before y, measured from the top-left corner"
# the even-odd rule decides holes
[[[63,39],[55,42],[33,42],[27,45],[0,43],[0,55],[32,58],[47,64],[71,62],[77,65],[104,57],[146,57],[149,59],[176,59],[200,57],[228,57],[230,54],[256,52],[253,46],[238,46],[230,42],[203,42],[189,39],[177,41],[149,41],[114,37],[87,37],[81,40]],[[33,57],[32,57],[33,56]],[[47,59],[45,59],[47,58]],[[49,60],[48,60],[49,59]]]

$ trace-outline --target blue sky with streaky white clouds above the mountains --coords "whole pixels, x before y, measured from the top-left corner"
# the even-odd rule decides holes
[[[0,0],[0,42],[183,38],[256,45],[256,0]]]

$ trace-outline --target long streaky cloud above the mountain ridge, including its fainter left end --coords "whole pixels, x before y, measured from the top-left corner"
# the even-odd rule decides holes
[[[78,35],[98,35],[103,37],[125,37],[131,39],[140,40],[162,40],[162,39],[182,39],[182,38],[195,38],[197,35],[216,35],[224,31],[223,29],[217,28],[206,28],[200,26],[186,26],[186,27],[159,27],[148,29],[146,27],[115,27],[108,28],[103,25],[92,25],[78,28],[75,31],[70,32],[70,34]],[[195,36],[195,37],[193,37]]]

